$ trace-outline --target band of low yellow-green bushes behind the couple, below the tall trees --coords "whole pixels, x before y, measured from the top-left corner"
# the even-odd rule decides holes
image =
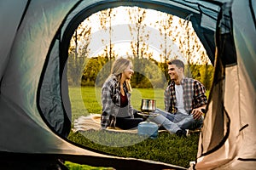
[[[110,74],[113,59],[98,56],[90,59],[70,56],[68,63],[68,83],[72,86],[102,87],[103,82]],[[135,74],[131,78],[133,88],[164,88],[169,82],[166,63],[159,63],[154,59],[130,58]],[[75,64],[77,63],[77,64]],[[82,66],[83,65],[83,66]],[[202,82],[208,89],[211,88],[213,78],[212,65],[187,65],[186,76]],[[84,71],[81,69],[84,68]]]

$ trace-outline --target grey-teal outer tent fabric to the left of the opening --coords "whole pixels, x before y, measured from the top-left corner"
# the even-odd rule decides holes
[[[67,14],[68,6],[73,5],[70,2],[57,3],[32,1],[19,30],[15,30],[9,62],[1,78],[1,117],[6,122],[1,123],[0,130],[3,151],[40,153],[53,150],[62,153],[63,150],[56,149],[55,145],[66,148],[67,153],[75,150],[73,144],[68,144],[49,129],[37,106],[38,82],[49,45]],[[23,6],[25,8],[26,2]]]

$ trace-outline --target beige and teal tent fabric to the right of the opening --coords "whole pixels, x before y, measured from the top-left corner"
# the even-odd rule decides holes
[[[256,32],[254,12],[247,9],[249,2],[234,1],[230,8],[237,56],[227,55],[232,48],[218,56],[217,62],[224,65],[216,70],[219,80],[216,84],[213,82],[196,169],[252,169],[255,166],[256,72],[255,68],[250,71],[248,68],[253,66],[256,56],[255,38],[249,35]],[[237,58],[236,62],[227,63],[224,59],[227,56],[230,60]]]

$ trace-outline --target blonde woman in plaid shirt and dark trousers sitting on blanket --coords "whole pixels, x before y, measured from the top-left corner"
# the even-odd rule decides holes
[[[143,122],[143,118],[137,117],[137,111],[131,107],[130,79],[133,73],[130,59],[114,61],[111,74],[102,87],[102,129],[131,129]]]

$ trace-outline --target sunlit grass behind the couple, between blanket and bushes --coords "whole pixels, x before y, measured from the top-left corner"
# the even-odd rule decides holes
[[[73,120],[90,113],[101,114],[101,88],[69,88]],[[155,99],[157,108],[164,109],[164,90],[152,88],[133,88],[131,105],[140,110],[142,99]]]

